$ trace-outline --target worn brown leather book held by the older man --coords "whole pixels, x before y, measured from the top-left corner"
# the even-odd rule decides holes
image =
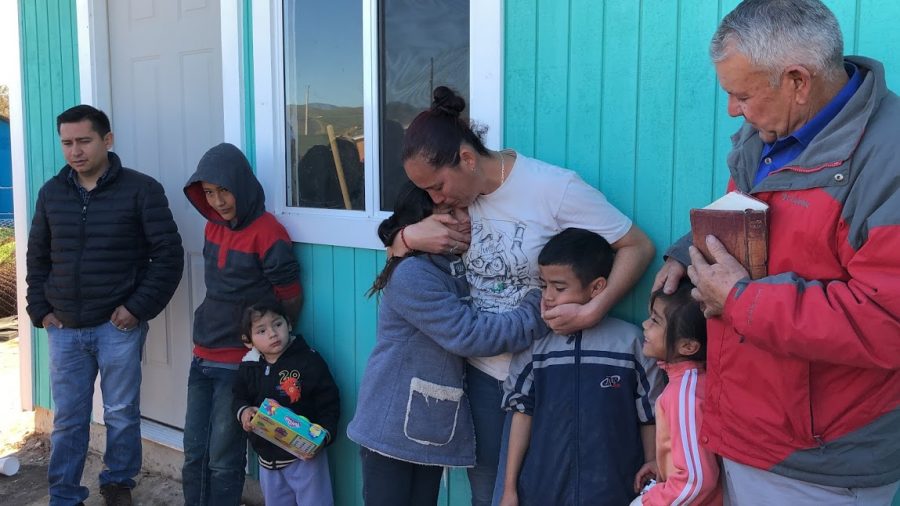
[[[725,249],[750,273],[751,279],[767,275],[769,259],[769,206],[740,192],[730,192],[703,209],[691,209],[691,235],[709,263],[715,259],[706,247],[706,236],[716,236]]]

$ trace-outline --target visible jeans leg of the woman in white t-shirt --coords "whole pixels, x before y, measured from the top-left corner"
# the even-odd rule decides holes
[[[506,413],[503,382],[466,364],[466,394],[475,424],[475,467],[467,470],[472,506],[490,506],[500,462],[500,440]]]

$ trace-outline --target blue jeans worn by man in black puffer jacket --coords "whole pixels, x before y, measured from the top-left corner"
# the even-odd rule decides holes
[[[100,373],[106,469],[100,486],[134,487],[141,470],[141,352],[147,323],[121,331],[111,322],[80,329],[47,329],[50,391],[55,406],[50,435],[50,504],[76,504],[88,496],[81,486],[90,439],[91,399]]]

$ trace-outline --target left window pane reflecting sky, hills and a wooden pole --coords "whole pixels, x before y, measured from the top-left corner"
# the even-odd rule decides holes
[[[365,208],[362,3],[284,0],[287,202]]]

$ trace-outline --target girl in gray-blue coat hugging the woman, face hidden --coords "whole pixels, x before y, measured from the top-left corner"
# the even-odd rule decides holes
[[[378,228],[382,242],[390,245],[433,207],[408,184]],[[540,292],[506,313],[479,312],[459,257],[419,252],[389,258],[370,295],[378,291],[375,348],[347,427],[362,446],[363,498],[367,505],[435,504],[443,466],[475,464],[464,357],[523,350],[543,337]]]

